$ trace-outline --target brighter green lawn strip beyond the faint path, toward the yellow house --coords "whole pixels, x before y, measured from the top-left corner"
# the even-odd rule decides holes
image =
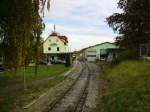
[[[37,76],[34,75],[34,67],[26,68],[26,78],[27,80],[37,80],[46,77],[51,77],[56,74],[65,72],[69,68],[64,65],[53,65],[53,66],[39,66]],[[19,69],[17,73],[13,71],[7,71],[0,73],[0,87],[6,87],[12,84],[21,84],[23,81],[23,68]]]

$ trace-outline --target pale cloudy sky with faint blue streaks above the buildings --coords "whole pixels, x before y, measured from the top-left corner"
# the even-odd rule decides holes
[[[106,17],[117,9],[118,0],[51,0],[45,11],[46,39],[56,25],[56,31],[66,35],[72,51],[101,42],[113,42],[116,34],[108,27]]]

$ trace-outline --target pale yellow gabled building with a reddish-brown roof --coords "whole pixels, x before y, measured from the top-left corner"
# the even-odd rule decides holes
[[[47,62],[64,61],[69,53],[68,38],[55,31],[48,36],[43,43],[43,53],[47,56]]]

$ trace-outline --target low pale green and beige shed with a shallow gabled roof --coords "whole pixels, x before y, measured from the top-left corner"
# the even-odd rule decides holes
[[[119,52],[119,47],[114,43],[105,42],[97,44],[91,47],[87,47],[81,50],[81,56],[87,61],[96,61],[96,60],[113,60],[116,53]]]

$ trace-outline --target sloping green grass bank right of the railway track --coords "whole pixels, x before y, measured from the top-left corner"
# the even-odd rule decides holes
[[[150,112],[150,62],[124,61],[103,70],[108,84],[99,111]]]

